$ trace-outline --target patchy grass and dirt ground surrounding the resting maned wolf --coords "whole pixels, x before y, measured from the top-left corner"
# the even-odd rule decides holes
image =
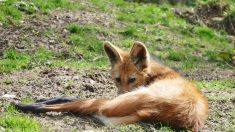
[[[102,49],[105,40],[124,49],[134,41],[144,42],[153,58],[195,82],[208,98],[210,113],[203,131],[235,129],[235,69],[228,57],[234,48],[232,36],[192,25],[174,16],[169,5],[122,0],[72,4],[61,0],[63,6],[53,0],[48,5],[31,2],[39,12],[16,10],[22,16],[15,19],[17,15],[4,12],[8,8],[0,11],[0,131],[173,131],[159,123],[104,126],[92,116],[22,113],[9,105],[61,95],[117,96]],[[10,3],[15,4],[20,3]],[[6,7],[1,2],[0,6]],[[15,6],[9,8],[14,11],[11,8]]]

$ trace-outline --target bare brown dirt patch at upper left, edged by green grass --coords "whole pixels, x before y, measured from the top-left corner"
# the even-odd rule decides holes
[[[20,25],[12,25],[7,28],[0,26],[0,53],[8,48],[14,48],[22,52],[34,52],[42,47],[56,52],[63,52],[70,45],[68,41],[70,33],[67,30],[69,24],[93,25],[105,28],[125,26],[112,17],[110,14],[92,10],[55,10],[45,15],[31,15],[24,18]],[[103,34],[97,34],[97,37],[100,40],[107,39],[104,38]]]

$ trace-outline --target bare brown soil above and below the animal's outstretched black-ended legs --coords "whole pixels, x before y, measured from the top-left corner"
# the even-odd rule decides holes
[[[15,98],[0,98],[1,112],[12,101],[19,102],[22,98],[33,100],[60,95],[79,98],[112,98],[117,89],[107,71],[93,70],[77,72],[71,69],[34,69],[21,71],[0,77],[1,95],[16,95]],[[47,113],[30,114],[43,126],[53,130],[69,131],[71,129],[92,129],[100,123],[94,119],[73,114]]]

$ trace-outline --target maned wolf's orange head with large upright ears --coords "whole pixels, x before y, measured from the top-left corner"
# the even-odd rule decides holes
[[[119,88],[119,93],[145,84],[150,57],[144,44],[135,42],[130,52],[126,52],[110,42],[105,42],[104,50],[111,63],[111,76]]]

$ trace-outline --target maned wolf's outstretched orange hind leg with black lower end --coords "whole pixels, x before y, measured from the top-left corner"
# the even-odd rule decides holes
[[[141,120],[139,111],[144,107],[146,98],[151,97],[143,91],[133,91],[114,99],[78,99],[63,104],[36,103],[32,105],[14,104],[22,111],[49,112],[69,111],[81,114],[95,114],[101,120],[109,120],[112,124],[131,123]],[[106,123],[107,124],[107,123]]]

